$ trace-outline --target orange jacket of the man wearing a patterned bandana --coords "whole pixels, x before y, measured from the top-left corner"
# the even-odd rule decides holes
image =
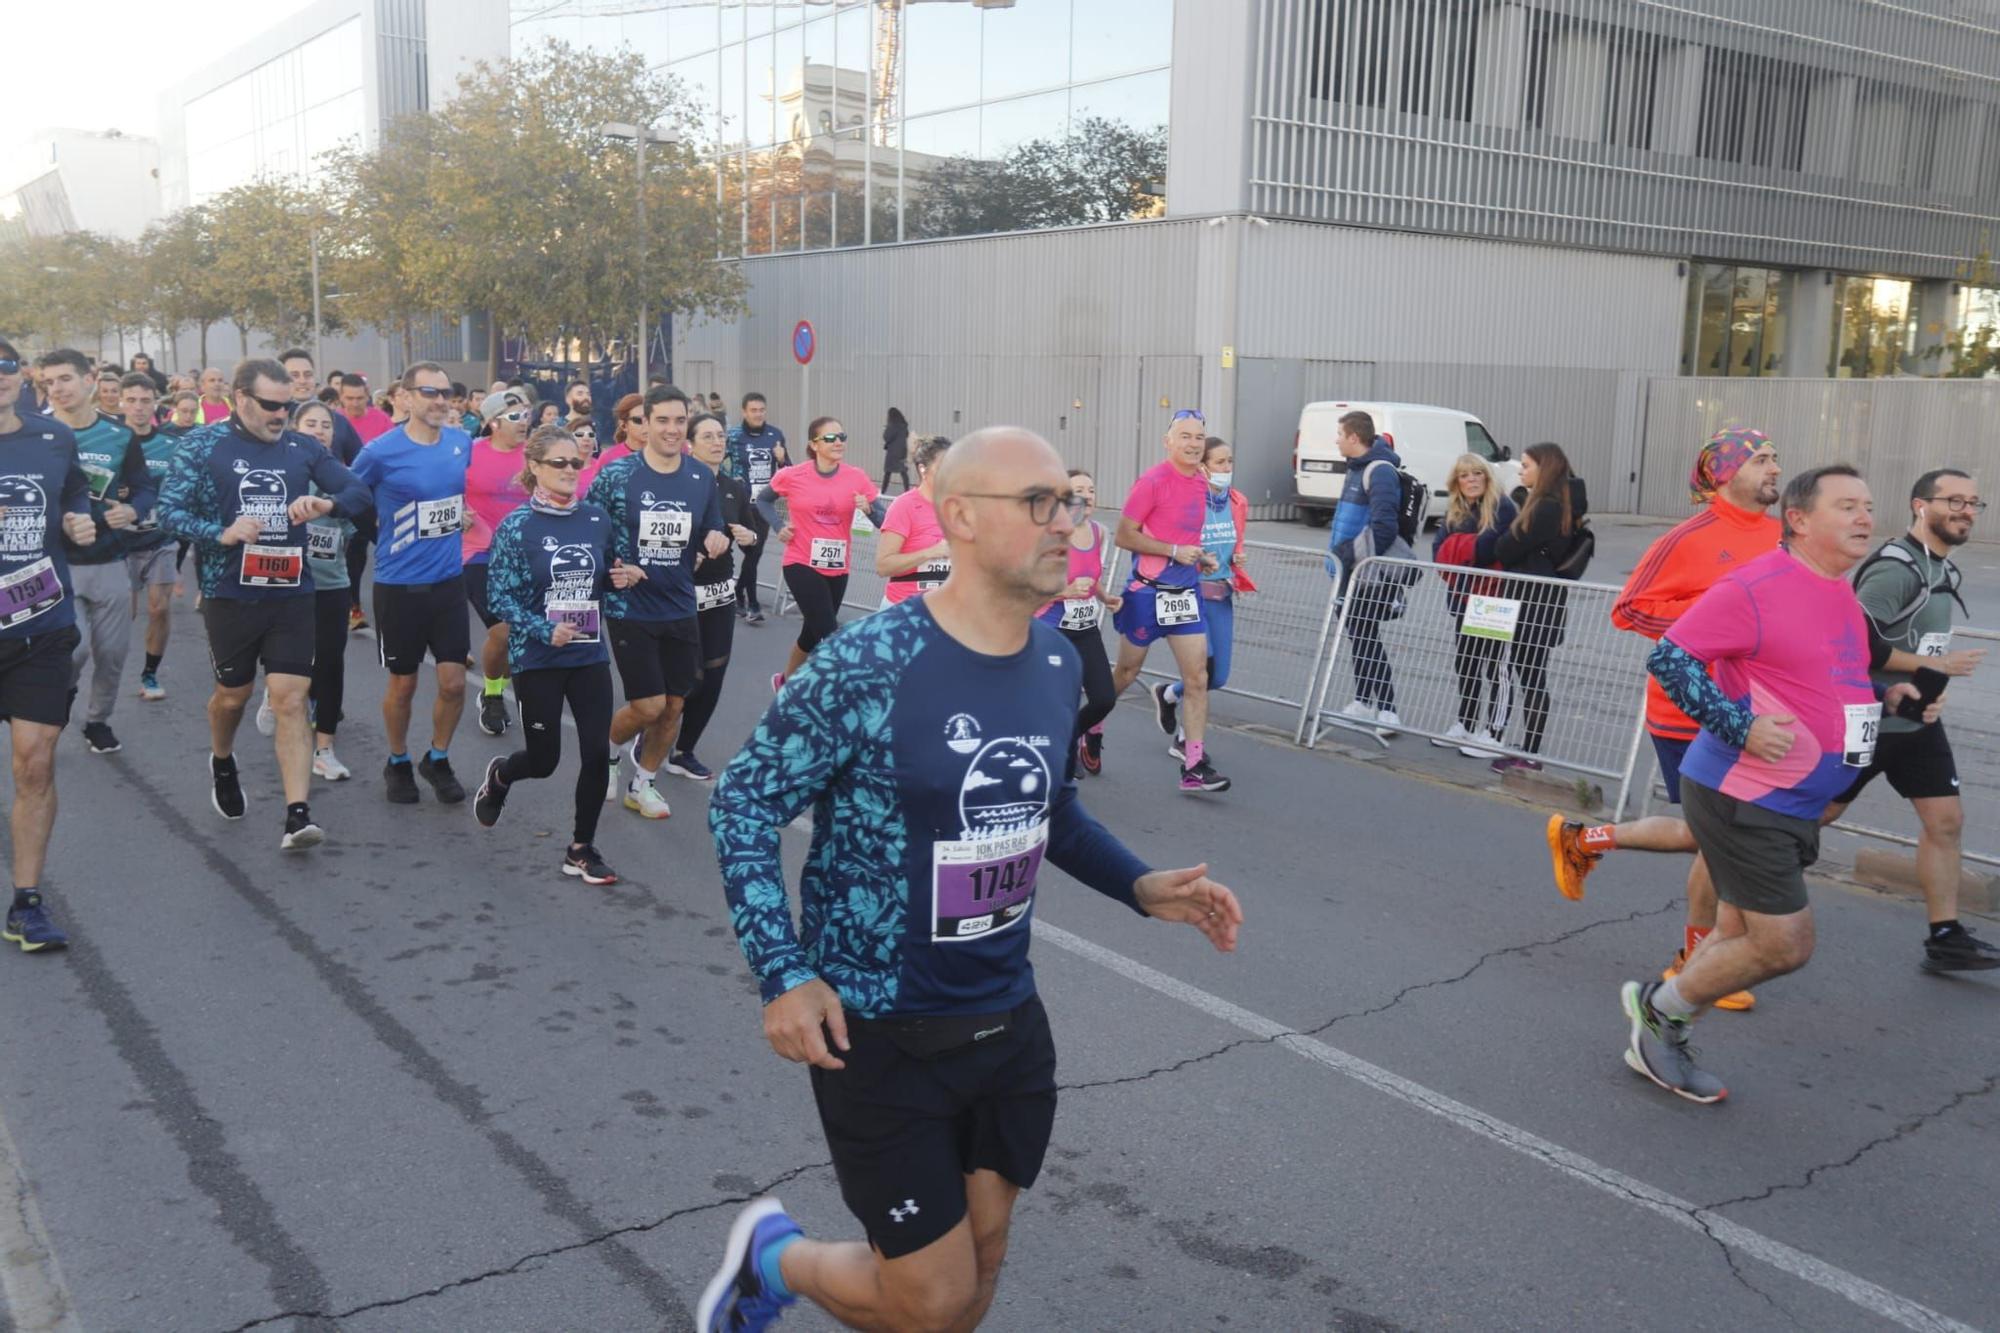
[[[1736,508],[1722,496],[1708,508],[1660,534],[1612,604],[1612,624],[1658,638],[1700,600],[1722,574],[1740,568],[1778,544],[1780,526],[1770,514]],[[1674,707],[1660,683],[1646,677],[1646,731],[1672,741],[1692,741],[1700,723]]]

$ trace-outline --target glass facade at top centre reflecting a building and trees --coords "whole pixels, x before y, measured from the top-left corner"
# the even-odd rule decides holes
[[[514,0],[698,106],[736,254],[1158,216],[1174,0]]]

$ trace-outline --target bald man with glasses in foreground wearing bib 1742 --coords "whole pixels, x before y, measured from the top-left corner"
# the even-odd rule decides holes
[[[814,432],[818,434],[818,432]],[[1028,965],[1044,857],[1138,913],[1236,947],[1206,867],[1148,871],[1062,781],[1082,673],[1036,624],[1080,502],[1044,440],[978,430],[946,454],[942,588],[842,630],[730,763],[708,821],[772,1049],[812,1065],[834,1173],[866,1241],[808,1241],[750,1203],[696,1327],[766,1329],[806,1297],[870,1329],[970,1329],[1056,1113]],[[814,811],[794,933],[780,837]]]

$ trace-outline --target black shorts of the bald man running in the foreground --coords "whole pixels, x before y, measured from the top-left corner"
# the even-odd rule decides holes
[[[966,1215],[966,1177],[1028,1189],[1056,1125],[1056,1043],[1038,997],[1012,1029],[932,1059],[884,1023],[848,1019],[846,1069],[814,1069],[812,1097],[840,1197],[886,1259],[914,1255]]]

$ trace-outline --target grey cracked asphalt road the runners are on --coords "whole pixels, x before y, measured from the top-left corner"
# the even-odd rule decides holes
[[[712,765],[790,626],[738,636]],[[248,727],[250,817],[208,807],[204,656],[182,608],[124,753],[64,737],[48,889],[76,947],[0,959],[18,1327],[678,1329],[748,1195],[854,1233],[762,1041],[702,789],[662,779],[666,825],[606,811],[608,891],[556,873],[566,775],[490,833],[388,807],[356,642],[356,781],[286,857]],[[1732,1099],[1694,1107],[1620,1063],[1616,1001],[1678,943],[1680,859],[1620,857],[1574,905],[1528,807],[1212,749],[1236,789],[1180,797],[1122,707],[1086,799],[1242,893],[1238,955],[1044,885],[1064,1095],[988,1327],[2000,1323],[2000,983],[1920,975],[1918,909],[1820,889],[1814,963],[1704,1023]],[[498,751],[468,719],[454,755],[470,779]]]

